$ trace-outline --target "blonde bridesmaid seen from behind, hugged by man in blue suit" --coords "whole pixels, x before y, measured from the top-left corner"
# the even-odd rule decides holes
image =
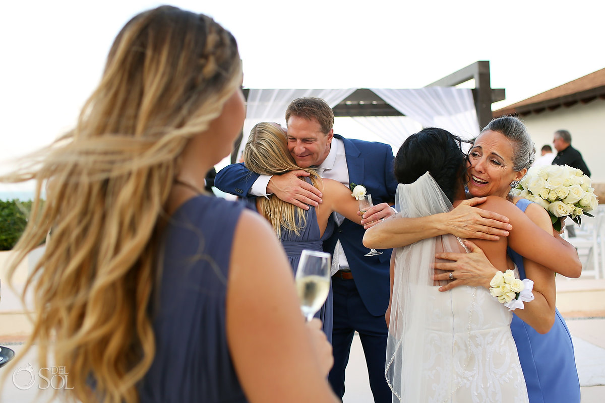
[[[252,128],[244,149],[244,164],[247,169],[261,175],[281,175],[304,170],[310,176],[301,179],[322,192],[323,202],[314,208],[310,206],[309,210],[284,202],[275,195],[246,199],[272,225],[295,273],[301,251],[321,251],[324,240],[332,235],[334,211],[358,224],[361,221],[358,201],[353,198],[350,189],[333,179],[319,178],[312,168],[296,165],[288,151],[286,132],[277,123],[263,122]],[[322,329],[328,339],[332,340],[332,287],[316,317],[321,319]]]

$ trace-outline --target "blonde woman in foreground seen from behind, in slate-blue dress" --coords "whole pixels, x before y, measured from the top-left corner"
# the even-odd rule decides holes
[[[27,282],[25,349],[65,366],[65,397],[336,402],[329,343],[304,323],[272,228],[201,190],[243,126],[240,86],[228,31],[145,11],[117,36],[76,129],[2,178],[37,184],[11,273],[52,229]]]

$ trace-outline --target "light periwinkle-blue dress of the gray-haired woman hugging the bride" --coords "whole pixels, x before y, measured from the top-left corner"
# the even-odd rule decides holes
[[[517,207],[525,212],[531,201],[520,199]],[[509,248],[521,279],[525,279],[523,257]],[[567,325],[555,308],[555,323],[547,334],[539,334],[517,315],[511,322],[529,403],[580,403],[580,381],[575,366],[574,345]]]

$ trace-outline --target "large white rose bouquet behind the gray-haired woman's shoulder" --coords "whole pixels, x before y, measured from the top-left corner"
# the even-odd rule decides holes
[[[580,169],[547,165],[531,167],[512,193],[546,208],[552,227],[561,231],[561,217],[569,216],[578,225],[584,214],[594,217],[589,212],[597,208],[598,199],[591,184]]]

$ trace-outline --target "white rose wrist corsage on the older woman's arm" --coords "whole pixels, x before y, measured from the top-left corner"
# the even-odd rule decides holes
[[[534,282],[529,279],[517,279],[512,270],[497,271],[489,282],[489,293],[498,298],[509,311],[523,309],[523,302],[534,300]]]

